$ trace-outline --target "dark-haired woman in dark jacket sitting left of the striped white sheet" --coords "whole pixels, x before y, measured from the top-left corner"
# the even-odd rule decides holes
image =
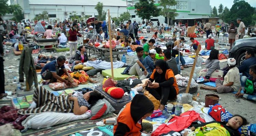
[[[75,64],[87,62],[89,59],[86,53],[85,46],[84,45],[79,46],[78,50],[79,51],[75,53]]]

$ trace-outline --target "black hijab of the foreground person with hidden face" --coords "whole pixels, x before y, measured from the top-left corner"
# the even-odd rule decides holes
[[[131,117],[137,123],[144,115],[153,112],[154,104],[146,96],[137,94],[131,101]]]

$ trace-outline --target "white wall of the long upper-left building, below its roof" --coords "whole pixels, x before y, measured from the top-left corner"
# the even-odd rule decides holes
[[[59,18],[61,20],[68,19],[72,11],[75,11],[78,16],[98,15],[98,12],[95,10],[95,6],[87,6],[87,5],[29,5],[30,12],[25,14],[25,19],[33,19],[35,15],[42,13],[43,11],[47,11],[48,14],[54,14],[56,17],[52,17],[50,19]],[[103,6],[103,10],[106,11],[110,9],[111,17],[118,17],[120,14],[127,11],[126,7],[118,7],[118,6]],[[67,12],[67,15],[64,13]],[[82,14],[84,12],[84,14]]]

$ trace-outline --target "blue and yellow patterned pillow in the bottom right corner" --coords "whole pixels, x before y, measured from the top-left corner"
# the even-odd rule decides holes
[[[238,131],[241,134],[241,136],[255,136],[256,135],[256,124],[242,125],[238,129]]]

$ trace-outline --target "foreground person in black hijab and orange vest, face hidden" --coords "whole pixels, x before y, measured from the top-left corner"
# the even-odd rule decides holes
[[[154,111],[153,103],[144,95],[137,94],[119,112],[114,123],[114,136],[141,136],[153,130],[150,123],[142,123]]]

